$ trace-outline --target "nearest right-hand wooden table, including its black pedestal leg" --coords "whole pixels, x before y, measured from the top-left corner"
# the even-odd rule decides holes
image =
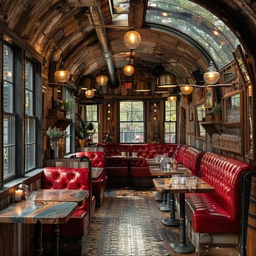
[[[154,178],[153,184],[159,193],[168,191],[180,195],[180,240],[178,243],[170,244],[173,251],[178,253],[195,252],[195,246],[186,241],[185,193],[213,192],[214,187],[211,187],[201,178],[197,178],[197,186],[193,189],[187,185],[173,185],[171,178]]]

